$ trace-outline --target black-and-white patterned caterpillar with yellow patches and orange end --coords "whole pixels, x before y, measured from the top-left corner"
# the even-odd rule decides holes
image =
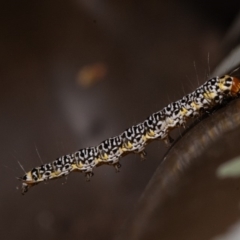
[[[182,99],[168,104],[153,113],[145,121],[126,129],[119,136],[109,138],[98,146],[87,147],[57,158],[51,163],[35,167],[18,179],[22,182],[22,194],[43,181],[66,176],[71,172],[83,172],[89,181],[94,167],[108,164],[119,171],[120,159],[130,153],[146,157],[145,147],[155,139],[169,144],[173,141],[169,132],[185,126],[190,118],[212,110],[225,99],[240,95],[240,79],[224,75],[206,81]]]

